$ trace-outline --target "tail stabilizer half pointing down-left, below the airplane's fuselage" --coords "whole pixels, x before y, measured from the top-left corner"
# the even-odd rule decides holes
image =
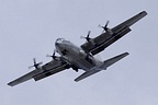
[[[92,75],[92,74],[94,74],[94,73],[97,73],[99,71],[101,71],[101,70],[87,71],[87,72],[82,73],[81,75],[79,75],[77,79],[75,79],[75,81],[78,82],[78,81],[80,81],[80,80],[82,80],[84,78],[88,78],[88,77],[90,77],[90,75]]]

